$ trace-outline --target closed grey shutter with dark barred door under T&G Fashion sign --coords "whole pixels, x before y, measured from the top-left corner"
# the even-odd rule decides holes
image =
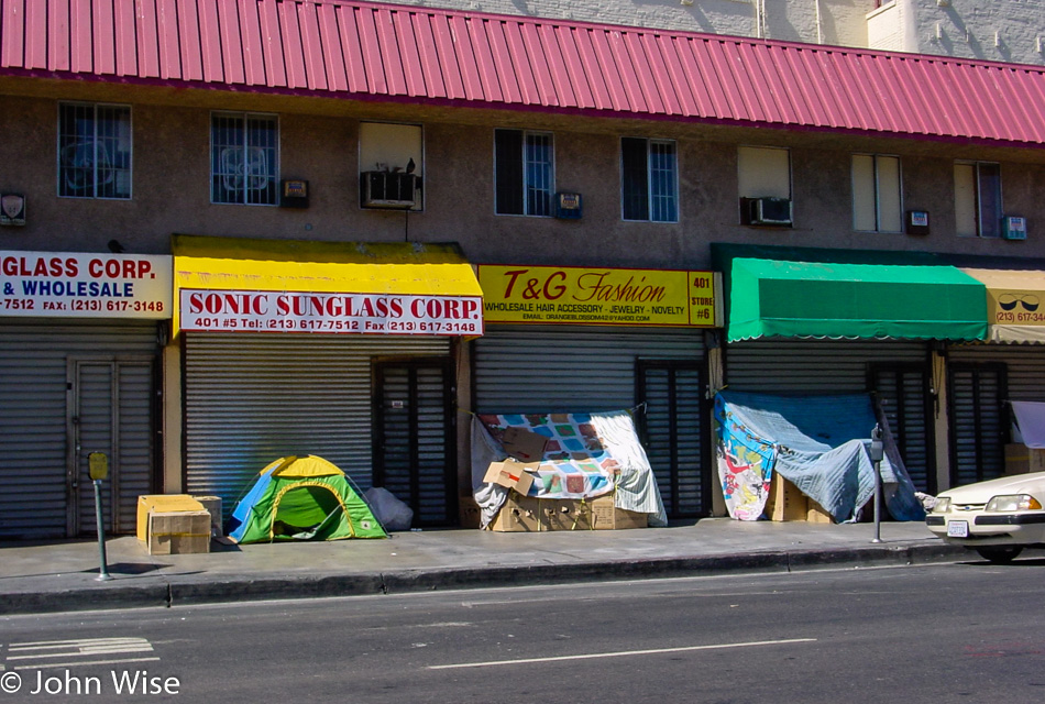
[[[668,516],[711,512],[701,330],[488,326],[473,378],[480,414],[636,408]]]

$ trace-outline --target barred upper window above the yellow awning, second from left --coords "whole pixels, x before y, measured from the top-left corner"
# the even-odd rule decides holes
[[[215,112],[210,120],[210,199],[278,205],[279,123],[275,116]]]

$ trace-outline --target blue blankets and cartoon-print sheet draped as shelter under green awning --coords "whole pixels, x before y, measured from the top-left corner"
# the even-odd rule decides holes
[[[884,504],[895,520],[925,512],[870,394],[773,396],[723,391],[715,395],[718,476],[733,518],[759,519],[773,472],[794,484],[836,522],[859,518],[875,493],[871,432],[883,431]]]

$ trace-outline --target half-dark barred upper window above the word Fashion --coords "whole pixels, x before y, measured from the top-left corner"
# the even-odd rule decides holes
[[[620,140],[620,201],[625,220],[679,221],[679,160],[670,140]]]

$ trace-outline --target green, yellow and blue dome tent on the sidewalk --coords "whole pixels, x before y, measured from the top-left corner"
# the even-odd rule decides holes
[[[316,455],[280,458],[257,475],[229,519],[239,543],[387,538],[352,481]]]

